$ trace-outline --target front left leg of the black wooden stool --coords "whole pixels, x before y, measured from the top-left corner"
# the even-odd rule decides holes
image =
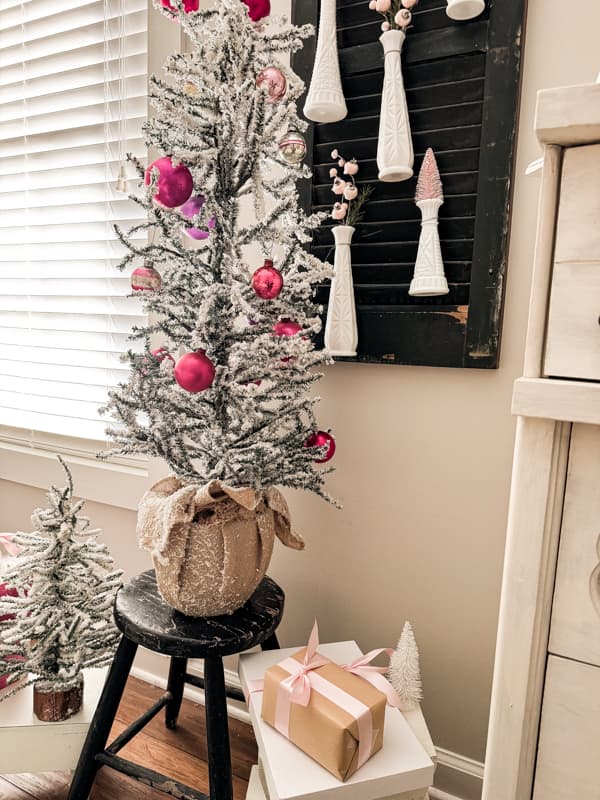
[[[98,702],[98,708],[79,756],[68,800],[86,800],[90,793],[99,766],[96,756],[106,747],[136,650],[137,644],[124,636],[121,637]]]

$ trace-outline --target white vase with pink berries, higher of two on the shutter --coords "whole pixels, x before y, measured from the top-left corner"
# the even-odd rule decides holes
[[[380,181],[405,181],[413,174],[414,152],[400,53],[404,31],[385,31],[379,37],[384,53],[383,94],[377,142]]]

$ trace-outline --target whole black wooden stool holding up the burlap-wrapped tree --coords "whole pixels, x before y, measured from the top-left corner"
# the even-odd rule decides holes
[[[239,689],[225,686],[222,657],[255,645],[261,645],[263,650],[279,647],[275,629],[283,614],[283,602],[279,586],[264,578],[246,605],[231,616],[186,617],[162,600],[153,570],[123,586],[115,601],[115,620],[123,636],[81,751],[68,800],[86,800],[101,766],[112,767],[181,800],[208,800],[197,789],[117,755],[162,708],[167,727],[175,727],[186,683],[204,689],[210,800],[232,800],[227,697],[243,700],[243,695]],[[167,691],[106,747],[138,645],[171,656]],[[188,658],[204,659],[204,678],[188,673]]]

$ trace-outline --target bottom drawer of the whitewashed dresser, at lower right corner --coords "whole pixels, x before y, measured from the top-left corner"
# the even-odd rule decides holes
[[[533,800],[600,800],[600,669],[549,656]]]

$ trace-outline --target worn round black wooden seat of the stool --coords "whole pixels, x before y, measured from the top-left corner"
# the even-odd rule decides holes
[[[284,594],[265,577],[248,602],[221,617],[187,617],[165,603],[154,570],[142,572],[117,593],[115,621],[142,647],[176,658],[241,653],[269,639],[283,615]]]

